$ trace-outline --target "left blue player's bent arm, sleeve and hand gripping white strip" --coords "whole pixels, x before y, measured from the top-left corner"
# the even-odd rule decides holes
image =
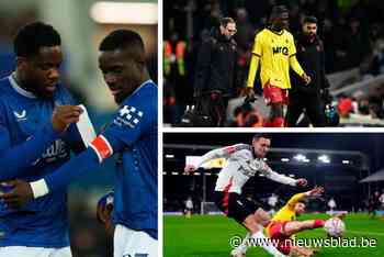
[[[52,122],[31,135],[29,139],[12,145],[10,131],[3,118],[0,118],[0,180],[12,179],[27,171],[44,150],[59,138],[70,123],[77,122],[81,109],[63,105],[55,109]]]

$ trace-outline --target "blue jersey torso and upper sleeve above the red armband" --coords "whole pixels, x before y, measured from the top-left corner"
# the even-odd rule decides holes
[[[116,158],[114,223],[157,238],[157,86],[143,83],[102,133],[121,142]],[[115,149],[114,149],[115,150]]]

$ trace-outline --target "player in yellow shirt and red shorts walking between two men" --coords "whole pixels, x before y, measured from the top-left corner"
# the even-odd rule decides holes
[[[289,26],[289,10],[284,5],[272,9],[272,24],[259,32],[255,37],[252,58],[250,63],[247,94],[252,97],[253,82],[260,63],[261,86],[266,103],[271,105],[268,126],[284,126],[283,104],[287,104],[287,89],[291,88],[290,67],[298,74],[306,83],[310,82],[298,64],[293,35],[286,31]]]

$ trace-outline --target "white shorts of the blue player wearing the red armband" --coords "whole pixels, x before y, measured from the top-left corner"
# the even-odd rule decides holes
[[[113,257],[157,257],[157,241],[143,231],[116,225]],[[1,257],[1,256],[0,256]]]

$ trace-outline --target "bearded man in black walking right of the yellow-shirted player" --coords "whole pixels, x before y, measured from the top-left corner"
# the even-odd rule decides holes
[[[296,37],[296,57],[312,81],[305,85],[291,72],[292,90],[286,113],[286,126],[300,126],[297,120],[305,110],[313,126],[326,126],[325,104],[329,103],[329,81],[325,75],[324,45],[317,36],[317,19],[306,16],[303,31]]]

